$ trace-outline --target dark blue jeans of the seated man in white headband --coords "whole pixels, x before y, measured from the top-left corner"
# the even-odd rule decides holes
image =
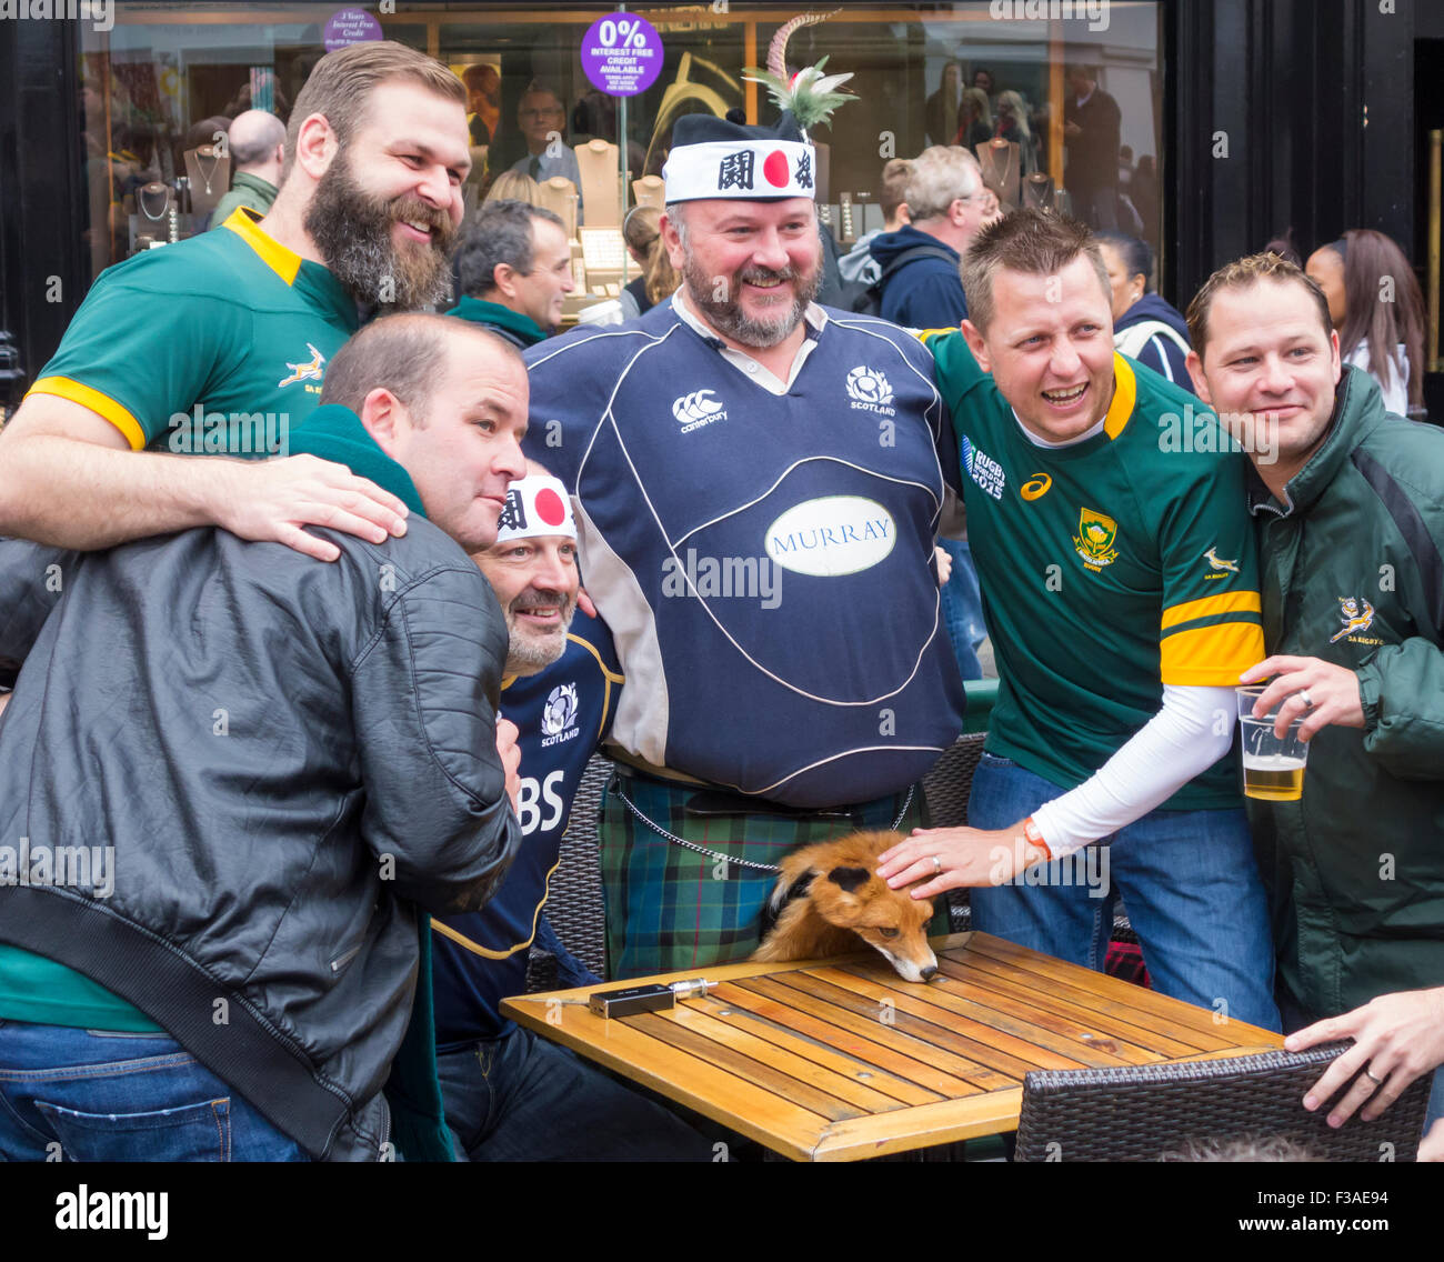
[[[436,1054],[461,1161],[710,1161],[712,1144],[565,1047],[511,1027]]]

